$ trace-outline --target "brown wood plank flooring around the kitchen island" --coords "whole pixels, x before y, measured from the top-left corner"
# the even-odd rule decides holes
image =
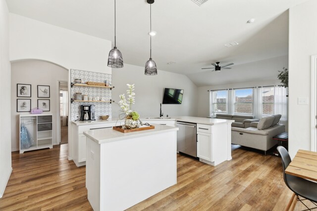
[[[67,160],[68,144],[12,153],[13,171],[0,211],[92,210],[85,167]],[[292,192],[282,177],[280,158],[236,149],[233,159],[212,167],[177,155],[177,184],[129,211],[281,211]],[[133,197],[133,196],[131,196]],[[297,203],[295,210],[305,208]]]

